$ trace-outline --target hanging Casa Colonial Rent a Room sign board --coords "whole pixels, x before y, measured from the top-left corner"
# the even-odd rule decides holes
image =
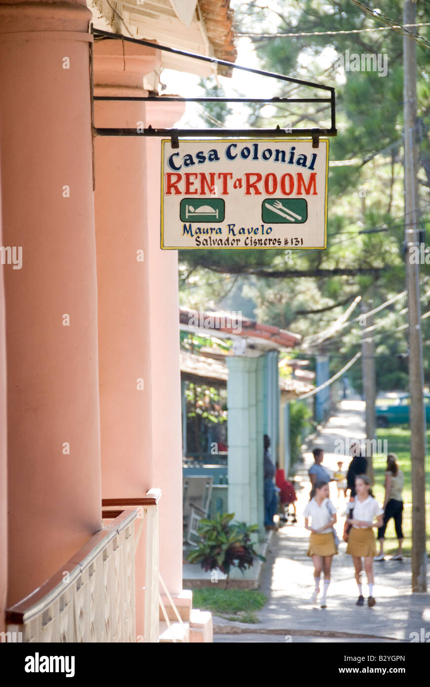
[[[325,248],[328,139],[161,142],[161,248]]]

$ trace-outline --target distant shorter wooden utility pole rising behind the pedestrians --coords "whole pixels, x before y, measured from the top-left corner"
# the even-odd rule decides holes
[[[363,397],[365,400],[365,433],[366,446],[369,449],[366,451],[367,458],[367,475],[374,482],[373,473],[373,440],[375,438],[376,418],[375,418],[375,401],[376,401],[376,371],[375,371],[375,344],[372,337],[372,332],[367,332],[366,329],[373,326],[373,315],[367,315],[372,310],[372,302],[361,304],[360,323],[363,327],[361,340],[361,375],[363,378]]]

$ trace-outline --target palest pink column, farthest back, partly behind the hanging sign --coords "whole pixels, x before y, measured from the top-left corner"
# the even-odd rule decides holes
[[[168,128],[183,115],[183,103],[163,103],[161,100],[146,105],[146,126]],[[160,249],[159,138],[147,140],[146,155],[152,451],[154,484],[163,493],[160,502],[160,572],[170,593],[179,594],[183,552],[178,252]]]

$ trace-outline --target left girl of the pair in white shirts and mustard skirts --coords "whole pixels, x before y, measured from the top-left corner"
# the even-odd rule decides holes
[[[308,556],[312,557],[314,565],[315,590],[310,598],[317,600],[321,571],[324,571],[324,592],[321,598],[321,608],[326,608],[328,585],[330,585],[330,568],[332,557],[337,554],[335,532],[333,525],[337,521],[336,508],[329,499],[330,488],[328,482],[315,482],[310,492],[310,500],[304,509],[304,526],[310,531]],[[309,518],[311,526],[309,526]]]

